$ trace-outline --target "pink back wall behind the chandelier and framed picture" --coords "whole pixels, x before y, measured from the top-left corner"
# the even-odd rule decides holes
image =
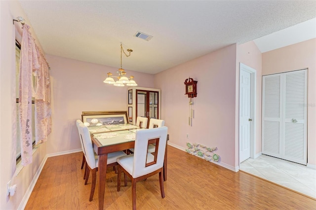
[[[107,72],[118,68],[46,55],[51,68],[52,133],[47,141],[47,153],[80,149],[75,124],[82,111],[127,110],[127,87],[103,83]],[[140,87],[154,87],[154,75],[126,70],[135,76]]]

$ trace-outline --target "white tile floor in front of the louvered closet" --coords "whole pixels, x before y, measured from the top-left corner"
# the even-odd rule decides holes
[[[316,198],[316,170],[304,165],[261,155],[240,163],[240,171],[259,176]]]

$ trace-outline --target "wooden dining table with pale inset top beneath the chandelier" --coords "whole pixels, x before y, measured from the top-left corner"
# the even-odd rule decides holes
[[[107,175],[108,153],[134,148],[136,131],[143,129],[131,124],[116,124],[88,127],[93,149],[98,155],[99,210],[103,210]],[[169,140],[169,135],[167,135]],[[167,146],[164,154],[163,180],[167,180]]]

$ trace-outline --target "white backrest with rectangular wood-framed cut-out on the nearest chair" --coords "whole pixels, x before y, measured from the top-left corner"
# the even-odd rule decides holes
[[[168,128],[165,126],[136,131],[132,173],[134,178],[150,174],[163,167],[167,132]],[[156,143],[155,155],[148,153],[149,143]]]

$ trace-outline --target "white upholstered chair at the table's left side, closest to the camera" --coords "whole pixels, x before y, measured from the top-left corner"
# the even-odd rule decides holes
[[[88,128],[85,125],[83,125],[81,121],[78,124],[79,124],[78,125],[79,136],[82,141],[83,152],[84,152],[85,162],[86,162],[86,175],[85,175],[84,184],[87,184],[88,182],[90,171],[92,173],[92,185],[91,185],[91,192],[90,192],[90,198],[89,198],[89,201],[92,201],[94,190],[95,190],[95,183],[96,183],[96,172],[98,171],[98,159],[96,159],[94,156],[92,140],[91,140],[91,136],[90,136]],[[107,168],[117,166],[118,165],[117,159],[123,156],[126,156],[126,154],[123,151],[109,153]],[[127,183],[126,183],[125,175],[124,175],[124,183],[126,186]]]

